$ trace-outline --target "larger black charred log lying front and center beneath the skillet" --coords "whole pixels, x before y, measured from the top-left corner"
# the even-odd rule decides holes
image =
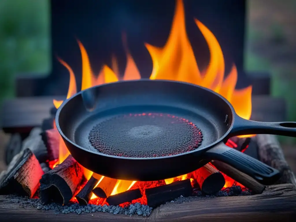
[[[157,186],[145,190],[147,197],[147,205],[156,207],[165,202],[174,200],[181,195],[189,197],[192,195],[192,187],[190,179],[176,181],[171,184]]]

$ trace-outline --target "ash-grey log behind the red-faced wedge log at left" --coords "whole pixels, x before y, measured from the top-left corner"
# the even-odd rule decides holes
[[[23,141],[22,149],[29,148],[34,153],[39,163],[42,163],[48,159],[48,154],[40,133],[41,128],[33,128],[29,136]]]

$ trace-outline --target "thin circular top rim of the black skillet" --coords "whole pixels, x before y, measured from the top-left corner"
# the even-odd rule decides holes
[[[194,87],[203,89],[205,91],[208,91],[208,92],[210,92],[212,94],[215,94],[216,96],[220,97],[220,99],[222,99],[229,106],[229,108],[231,109],[231,112],[232,112],[232,121],[231,121],[231,125],[229,126],[228,131],[226,131],[226,133],[224,133],[224,135],[221,136],[218,140],[216,140],[215,142],[213,142],[211,144],[208,144],[205,147],[202,147],[201,149],[194,149],[192,151],[183,152],[183,153],[179,153],[179,154],[175,154],[175,155],[170,155],[170,156],[163,156],[163,157],[120,157],[120,156],[107,155],[107,154],[104,154],[104,153],[92,151],[92,150],[89,150],[89,149],[86,149],[84,147],[79,146],[78,144],[76,144],[72,140],[68,139],[67,136],[65,136],[65,134],[62,132],[62,129],[59,126],[59,114],[62,111],[62,108],[65,105],[67,105],[67,103],[71,99],[73,99],[74,97],[78,96],[79,94],[82,94],[84,91],[95,89],[95,88],[98,88],[98,87],[101,87],[101,86],[107,86],[107,85],[110,85],[110,84],[120,84],[120,83],[123,83],[123,82],[140,82],[140,81],[141,82],[157,81],[157,82],[169,82],[169,83],[184,84],[184,85],[194,86]],[[227,99],[225,99],[223,96],[221,96],[220,94],[216,93],[215,91],[213,91],[211,89],[208,89],[208,88],[205,88],[205,87],[202,87],[202,86],[199,86],[199,85],[195,85],[195,84],[192,84],[192,83],[181,82],[181,81],[160,80],[160,79],[150,80],[149,78],[143,78],[143,79],[138,79],[138,80],[120,80],[120,81],[116,81],[116,82],[112,82],[112,83],[104,83],[104,84],[101,84],[99,86],[92,86],[92,87],[90,87],[88,89],[84,89],[84,90],[79,91],[78,93],[76,93],[73,96],[71,96],[69,99],[64,100],[64,102],[57,109],[57,113],[55,115],[55,124],[56,124],[57,130],[59,131],[59,134],[62,136],[62,138],[64,140],[67,140],[73,146],[75,146],[76,148],[82,149],[83,151],[86,151],[86,152],[89,152],[89,153],[92,153],[92,154],[95,154],[95,155],[102,155],[104,157],[111,157],[111,158],[118,158],[118,159],[126,159],[126,160],[156,160],[156,159],[164,159],[164,158],[171,158],[171,157],[178,157],[178,156],[182,156],[182,155],[188,155],[188,154],[191,154],[191,153],[194,153],[194,152],[197,152],[197,151],[199,151],[199,152],[202,152],[202,151],[203,152],[206,152],[208,149],[210,149],[211,147],[213,147],[216,144],[220,143],[221,141],[223,141],[227,137],[227,135],[231,132],[231,130],[232,130],[233,126],[234,126],[234,118],[235,118],[236,115],[237,114],[236,114],[233,106],[231,105],[231,103]],[[68,149],[68,151],[70,152],[69,149]]]

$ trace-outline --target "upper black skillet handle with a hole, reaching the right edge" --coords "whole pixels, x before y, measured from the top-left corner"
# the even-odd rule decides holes
[[[296,137],[296,122],[258,122],[235,115],[228,137],[250,134],[274,134]]]

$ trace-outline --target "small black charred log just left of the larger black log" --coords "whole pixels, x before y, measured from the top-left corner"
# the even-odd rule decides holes
[[[142,197],[142,194],[140,189],[138,188],[138,189],[127,190],[125,192],[112,195],[107,198],[107,203],[109,205],[117,206],[119,204],[122,204],[125,202],[131,202],[132,200],[136,200],[141,197]]]

